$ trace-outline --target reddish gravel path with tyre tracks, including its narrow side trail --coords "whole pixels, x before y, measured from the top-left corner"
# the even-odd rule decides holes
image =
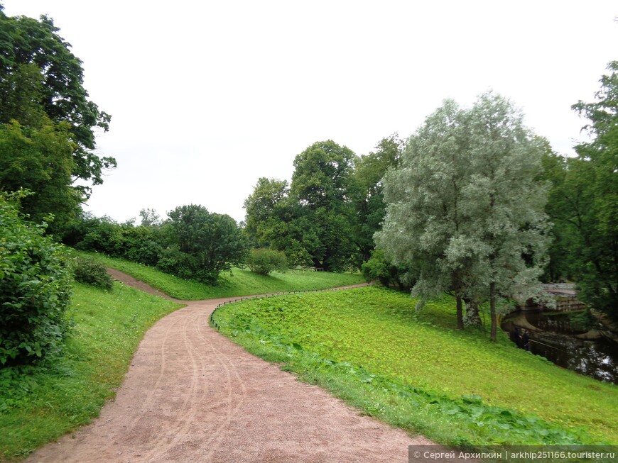
[[[408,461],[408,445],[432,443],[359,415],[217,333],[208,318],[224,301],[183,301],[159,320],[99,418],[27,461],[391,463]]]

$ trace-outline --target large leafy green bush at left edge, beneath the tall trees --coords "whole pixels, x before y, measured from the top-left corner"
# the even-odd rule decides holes
[[[70,275],[60,246],[28,226],[0,195],[0,364],[34,362],[60,349]]]

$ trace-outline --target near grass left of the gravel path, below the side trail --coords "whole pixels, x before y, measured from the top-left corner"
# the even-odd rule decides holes
[[[146,330],[178,303],[114,284],[75,284],[61,357],[0,369],[0,459],[13,460],[89,423],[121,384]]]

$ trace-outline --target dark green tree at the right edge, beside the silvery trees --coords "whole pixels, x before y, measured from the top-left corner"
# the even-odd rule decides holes
[[[582,300],[618,319],[618,62],[610,62],[596,101],[573,105],[592,140],[566,160],[552,206],[570,235],[573,274]]]

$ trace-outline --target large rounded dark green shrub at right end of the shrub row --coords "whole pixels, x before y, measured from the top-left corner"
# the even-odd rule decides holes
[[[173,247],[163,253],[159,267],[212,282],[220,272],[244,261],[246,238],[227,214],[191,204],[175,208],[168,216]]]

